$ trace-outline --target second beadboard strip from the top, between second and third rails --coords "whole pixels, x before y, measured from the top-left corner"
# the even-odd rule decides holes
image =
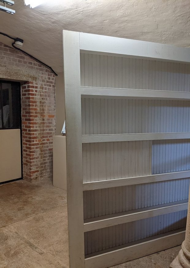
[[[190,101],[82,99],[82,134],[189,132]]]

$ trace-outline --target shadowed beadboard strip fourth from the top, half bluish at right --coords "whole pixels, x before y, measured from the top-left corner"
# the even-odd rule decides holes
[[[84,219],[188,199],[190,179],[84,192]]]

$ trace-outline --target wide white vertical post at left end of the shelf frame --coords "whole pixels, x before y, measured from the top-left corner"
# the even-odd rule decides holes
[[[63,31],[66,172],[70,268],[84,268],[79,33]],[[72,107],[72,109],[70,108]]]

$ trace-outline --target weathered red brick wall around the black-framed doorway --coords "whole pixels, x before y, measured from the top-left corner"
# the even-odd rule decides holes
[[[0,78],[21,82],[23,178],[49,178],[55,135],[55,75],[23,53],[0,43]]]

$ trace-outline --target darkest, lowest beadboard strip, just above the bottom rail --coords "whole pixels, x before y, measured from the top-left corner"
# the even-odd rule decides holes
[[[85,255],[183,228],[186,217],[187,210],[183,210],[86,232]]]

